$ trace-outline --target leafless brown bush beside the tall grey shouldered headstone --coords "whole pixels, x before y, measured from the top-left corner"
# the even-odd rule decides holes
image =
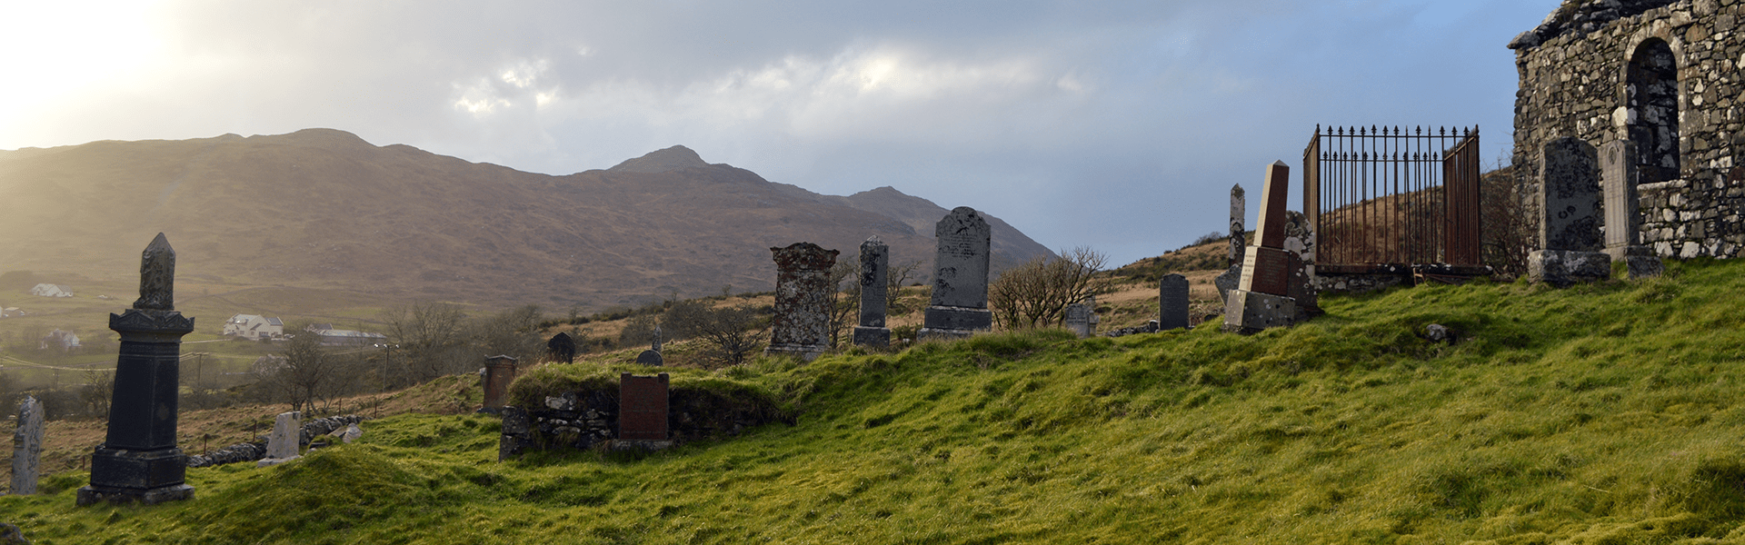
[[[1066,306],[1110,286],[1094,274],[1108,262],[1089,246],[1063,250],[1059,259],[1037,257],[1007,269],[988,285],[988,306],[1005,328],[1037,328],[1063,321]]]

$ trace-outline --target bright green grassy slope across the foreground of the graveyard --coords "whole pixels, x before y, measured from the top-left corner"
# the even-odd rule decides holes
[[[35,543],[1745,542],[1742,272],[1326,297],[1253,337],[761,362],[721,374],[789,395],[797,426],[496,463],[492,419],[408,414],[298,463],[190,470],[194,501],[73,508],[63,473],[0,519]]]

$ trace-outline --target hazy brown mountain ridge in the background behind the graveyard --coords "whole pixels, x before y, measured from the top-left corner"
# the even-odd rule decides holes
[[[546,307],[770,290],[768,248],[796,241],[855,255],[879,236],[893,260],[930,262],[948,211],[888,187],[818,196],[684,147],[548,176],[333,129],[0,152],[0,271],[117,279],[162,231],[180,276],[213,292]],[[993,224],[996,257],[1050,255]]]

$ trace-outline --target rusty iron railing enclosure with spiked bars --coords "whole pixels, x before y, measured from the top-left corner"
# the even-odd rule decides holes
[[[1316,126],[1304,215],[1316,274],[1480,267],[1478,128]]]

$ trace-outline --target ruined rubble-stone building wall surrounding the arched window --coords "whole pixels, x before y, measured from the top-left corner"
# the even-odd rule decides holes
[[[1626,138],[1630,56],[1659,38],[1677,63],[1679,169],[1673,180],[1637,187],[1642,245],[1661,257],[1740,255],[1742,17],[1745,0],[1572,0],[1509,44],[1520,72],[1513,161],[1527,229],[1537,229],[1541,210],[1539,150],[1560,136],[1595,148]]]

